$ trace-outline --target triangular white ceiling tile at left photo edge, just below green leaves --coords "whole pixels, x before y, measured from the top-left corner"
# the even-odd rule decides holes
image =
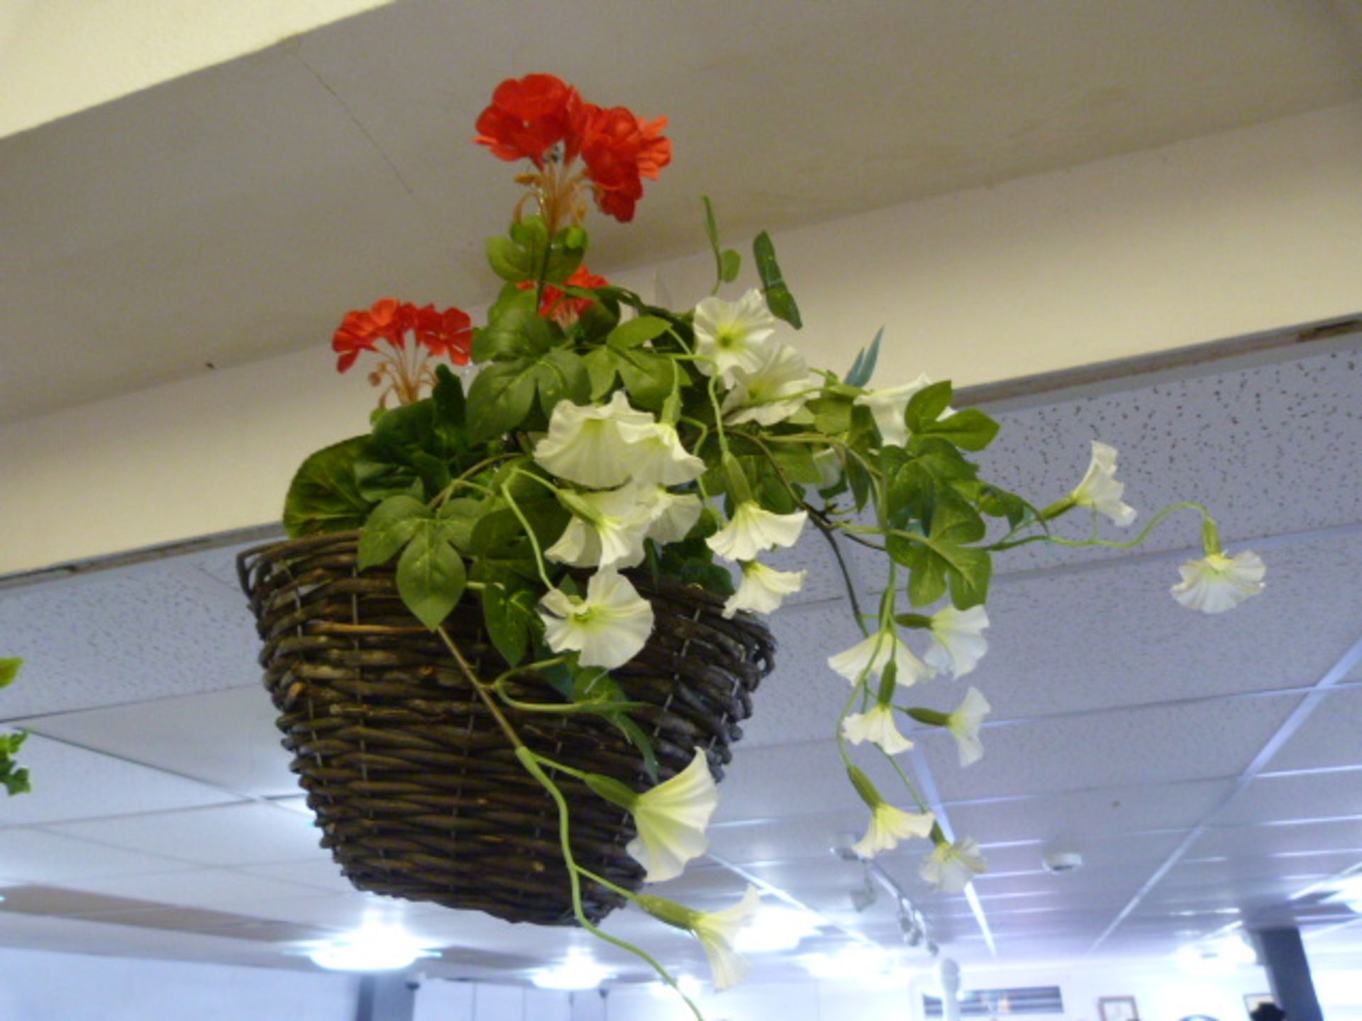
[[[22,760],[34,791],[0,803],[0,829],[34,822],[221,805],[233,795],[34,734]]]

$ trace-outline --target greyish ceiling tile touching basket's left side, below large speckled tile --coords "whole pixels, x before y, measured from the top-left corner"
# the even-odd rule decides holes
[[[278,712],[259,686],[45,716],[37,734],[108,751],[255,796],[298,792],[279,745]],[[204,741],[204,727],[212,741]],[[113,814],[113,813],[102,813]],[[75,818],[75,817],[68,817]]]

